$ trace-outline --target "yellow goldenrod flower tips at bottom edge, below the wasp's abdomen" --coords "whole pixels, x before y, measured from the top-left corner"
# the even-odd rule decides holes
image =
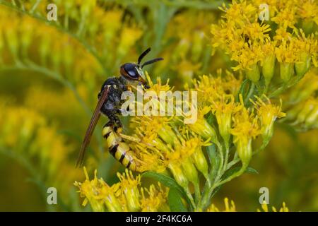
[[[75,182],[82,197],[85,197],[83,206],[89,202],[94,211],[167,211],[168,189],[158,183],[148,188],[141,187],[141,176],[134,177],[126,169],[123,174],[117,173],[119,182],[108,185],[102,178],[98,179],[95,170],[94,179],[90,180],[84,167],[86,180],[83,183]]]

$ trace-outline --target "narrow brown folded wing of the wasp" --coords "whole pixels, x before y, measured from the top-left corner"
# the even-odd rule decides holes
[[[84,138],[84,141],[82,143],[80,153],[78,154],[76,167],[78,167],[78,165],[81,167],[81,165],[83,163],[83,158],[84,158],[84,155],[86,153],[86,148],[88,147],[88,144],[90,143],[90,138],[92,137],[95,126],[98,123],[98,119],[100,119],[100,108],[102,107],[102,105],[106,101],[107,96],[108,96],[108,88],[105,88],[102,91],[102,94],[100,95],[100,98],[98,100],[98,104],[96,105],[93,116],[90,119],[90,124],[88,126],[88,129],[86,130],[85,138]]]

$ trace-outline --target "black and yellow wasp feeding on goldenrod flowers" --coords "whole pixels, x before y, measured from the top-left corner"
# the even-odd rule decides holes
[[[93,116],[90,119],[90,124],[86,130],[86,134],[81,145],[81,150],[78,154],[78,160],[76,162],[76,167],[83,164],[83,158],[86,153],[86,149],[90,143],[90,138],[93,135],[100,115],[104,114],[108,117],[109,121],[102,128],[102,136],[106,139],[107,148],[110,154],[114,156],[124,167],[131,169],[133,171],[139,171],[140,163],[135,160],[132,151],[124,142],[122,136],[120,136],[117,131],[122,130],[122,122],[119,116],[122,114],[122,93],[129,90],[129,85],[133,83],[138,83],[143,85],[144,88],[149,88],[146,82],[146,78],[143,74],[143,66],[148,64],[153,64],[157,61],[163,60],[163,58],[155,58],[150,61],[146,61],[141,64],[143,57],[151,51],[151,48],[146,49],[135,63],[126,63],[120,66],[120,76],[108,78],[103,84],[98,93],[98,103],[93,112]]]

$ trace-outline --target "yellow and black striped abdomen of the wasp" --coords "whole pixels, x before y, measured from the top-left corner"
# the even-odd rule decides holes
[[[102,136],[106,139],[107,148],[124,167],[132,171],[139,172],[139,167],[134,159],[129,145],[124,143],[123,139],[114,132],[111,126],[104,126],[102,129]]]

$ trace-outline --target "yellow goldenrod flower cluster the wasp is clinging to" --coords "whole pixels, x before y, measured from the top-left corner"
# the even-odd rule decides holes
[[[195,210],[205,210],[217,186],[245,172],[252,155],[265,148],[271,139],[273,122],[285,116],[281,104],[273,104],[264,96],[256,97],[255,102],[244,100],[238,88],[229,85],[238,85],[240,78],[236,79],[231,73],[220,76],[220,73],[202,76],[189,88],[198,92],[199,99],[198,119],[194,124],[183,124],[185,115],[139,116],[133,119],[133,135],[123,136],[130,141],[136,160],[141,164],[140,171],[173,177]],[[153,83],[148,76],[148,83],[148,90],[158,95],[160,91],[173,90],[159,78]],[[258,135],[262,136],[263,144],[253,148],[252,141]],[[240,171],[225,178],[225,173],[238,162],[242,162]],[[202,183],[206,191],[202,190]]]

